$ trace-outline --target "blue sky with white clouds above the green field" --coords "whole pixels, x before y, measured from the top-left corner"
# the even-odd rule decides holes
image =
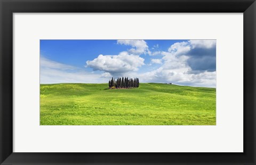
[[[40,82],[216,84],[216,40],[40,40]]]

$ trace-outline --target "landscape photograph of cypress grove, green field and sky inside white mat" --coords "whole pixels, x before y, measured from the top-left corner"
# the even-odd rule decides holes
[[[216,42],[40,40],[40,125],[216,125]]]

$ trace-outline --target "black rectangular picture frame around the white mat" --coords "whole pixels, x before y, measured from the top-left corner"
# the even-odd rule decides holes
[[[0,0],[0,164],[256,164],[255,0]],[[243,153],[13,152],[13,13],[239,12],[244,27]],[[235,34],[234,34],[235,35]]]

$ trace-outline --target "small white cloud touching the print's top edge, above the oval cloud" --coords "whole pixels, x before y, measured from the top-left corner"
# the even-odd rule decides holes
[[[132,48],[128,51],[131,54],[150,54],[147,42],[144,40],[117,40],[117,44],[130,45]]]

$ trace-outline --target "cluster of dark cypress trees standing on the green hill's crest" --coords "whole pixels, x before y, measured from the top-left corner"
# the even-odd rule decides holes
[[[112,77],[108,82],[109,88],[116,89],[130,89],[130,88],[138,88],[140,86],[140,82],[138,78],[129,79],[128,77],[118,77],[116,80]]]

